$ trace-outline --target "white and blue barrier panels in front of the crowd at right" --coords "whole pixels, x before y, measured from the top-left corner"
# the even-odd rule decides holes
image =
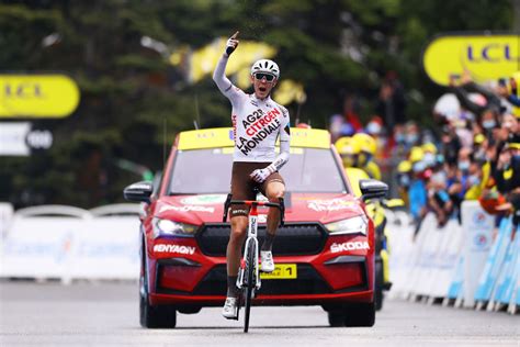
[[[462,225],[438,227],[427,214],[419,232],[405,212],[387,211],[391,296],[488,311],[520,306],[520,233],[511,219],[495,216],[477,201],[462,204]]]

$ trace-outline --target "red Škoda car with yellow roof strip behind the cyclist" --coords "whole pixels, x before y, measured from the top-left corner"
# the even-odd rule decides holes
[[[126,199],[145,203],[142,326],[174,327],[177,312],[223,305],[230,226],[222,217],[233,150],[230,128],[182,132],[160,181],[125,189]],[[273,244],[276,268],[262,273],[253,305],[320,305],[331,326],[372,326],[374,225],[363,200],[352,194],[329,133],[292,128],[291,159],[281,174],[285,224]],[[387,191],[375,180],[360,186],[364,198]],[[260,211],[260,245],[267,212]]]

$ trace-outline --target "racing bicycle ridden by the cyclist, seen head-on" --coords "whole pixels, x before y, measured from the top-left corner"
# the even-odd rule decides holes
[[[280,198],[280,203],[270,202],[270,201],[256,201],[256,200],[231,200],[231,194],[227,195],[226,202],[224,204],[224,216],[223,223],[227,221],[227,212],[233,204],[246,204],[250,206],[249,209],[249,223],[248,223],[248,233],[245,243],[245,251],[242,259],[240,261],[240,268],[238,269],[237,278],[237,288],[240,290],[240,295],[238,298],[238,311],[237,317],[239,318],[241,300],[245,301],[246,317],[244,320],[244,333],[247,333],[249,329],[249,316],[251,311],[252,298],[255,298],[255,292],[260,290],[261,280],[260,280],[260,269],[258,266],[258,206],[268,206],[268,208],[278,208],[280,210],[280,225],[284,224],[284,214],[285,206],[283,198]]]

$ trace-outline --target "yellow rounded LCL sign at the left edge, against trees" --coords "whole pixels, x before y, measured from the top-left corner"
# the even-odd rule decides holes
[[[67,76],[0,75],[0,117],[66,117],[78,103],[78,86]]]

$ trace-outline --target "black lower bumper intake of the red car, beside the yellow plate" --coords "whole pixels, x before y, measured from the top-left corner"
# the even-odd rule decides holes
[[[284,294],[326,294],[331,293],[327,282],[310,265],[297,265],[297,279],[262,280],[260,292],[262,295]],[[214,267],[196,286],[193,295],[226,295],[227,275],[226,266]]]

